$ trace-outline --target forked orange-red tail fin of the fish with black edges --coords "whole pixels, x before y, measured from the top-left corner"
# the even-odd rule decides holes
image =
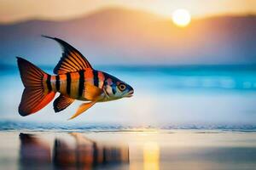
[[[19,106],[20,116],[27,116],[44,108],[54,99],[55,92],[44,89],[44,77],[48,75],[26,59],[17,57],[24,91]]]

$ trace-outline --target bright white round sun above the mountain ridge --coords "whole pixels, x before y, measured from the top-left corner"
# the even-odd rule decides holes
[[[176,9],[172,13],[172,21],[175,25],[180,27],[188,26],[191,21],[189,11],[183,8]]]

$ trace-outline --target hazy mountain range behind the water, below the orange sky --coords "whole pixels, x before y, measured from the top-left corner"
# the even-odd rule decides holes
[[[26,20],[0,25],[0,59],[15,64],[22,56],[55,65],[59,37],[94,65],[189,65],[256,63],[256,16],[216,16],[192,20],[185,28],[135,9],[105,8],[61,21]]]

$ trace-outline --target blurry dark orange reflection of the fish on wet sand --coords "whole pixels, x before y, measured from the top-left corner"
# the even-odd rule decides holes
[[[43,139],[20,133],[20,169],[112,168],[129,162],[127,147],[97,144],[81,133],[70,135],[75,139],[74,144],[56,138],[51,152],[50,144]]]

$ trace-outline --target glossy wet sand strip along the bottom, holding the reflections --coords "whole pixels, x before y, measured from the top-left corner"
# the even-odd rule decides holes
[[[256,133],[0,132],[0,169],[255,169]]]

